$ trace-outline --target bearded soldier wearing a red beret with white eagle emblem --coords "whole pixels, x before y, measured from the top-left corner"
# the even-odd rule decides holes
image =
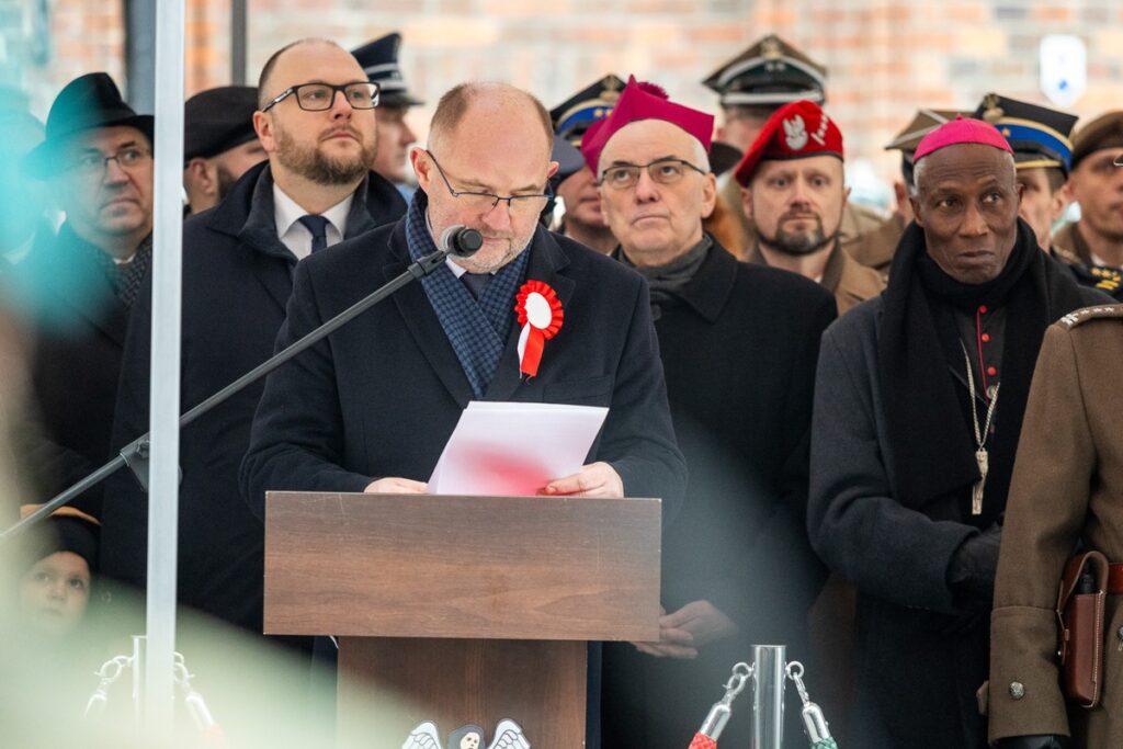
[[[842,134],[807,100],[768,119],[734,179],[745,214],[757,228],[749,262],[798,273],[834,294],[839,313],[882,293],[877,271],[859,265],[839,245],[849,191],[842,172]]]

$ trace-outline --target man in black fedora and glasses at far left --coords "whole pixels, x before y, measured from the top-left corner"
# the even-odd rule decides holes
[[[51,188],[66,221],[20,264],[30,300],[39,428],[27,460],[54,493],[110,457],[110,431],[130,310],[152,262],[153,118],[106,73],[71,81],[22,162]],[[80,500],[98,514],[100,493]]]

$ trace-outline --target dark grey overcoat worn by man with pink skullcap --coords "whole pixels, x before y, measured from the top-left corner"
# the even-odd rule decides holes
[[[1051,320],[1111,302],[1034,252]],[[957,608],[947,579],[956,550],[978,531],[958,495],[921,508],[897,499],[878,369],[883,312],[878,296],[827,330],[815,385],[809,530],[831,570],[858,590],[851,725],[862,747],[982,749],[986,721],[975,693],[986,679],[989,616]],[[966,399],[966,386],[957,389]],[[1003,496],[996,511],[1004,506]]]

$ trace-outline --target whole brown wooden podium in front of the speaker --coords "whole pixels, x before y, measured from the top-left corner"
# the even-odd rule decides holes
[[[265,632],[339,637],[341,746],[510,718],[574,749],[586,641],[658,639],[659,547],[658,500],[270,492]]]

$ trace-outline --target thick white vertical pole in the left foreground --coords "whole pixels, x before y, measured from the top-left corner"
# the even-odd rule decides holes
[[[152,304],[152,464],[145,724],[172,736],[180,464],[180,299],[183,257],[184,0],[156,9],[156,166]]]

